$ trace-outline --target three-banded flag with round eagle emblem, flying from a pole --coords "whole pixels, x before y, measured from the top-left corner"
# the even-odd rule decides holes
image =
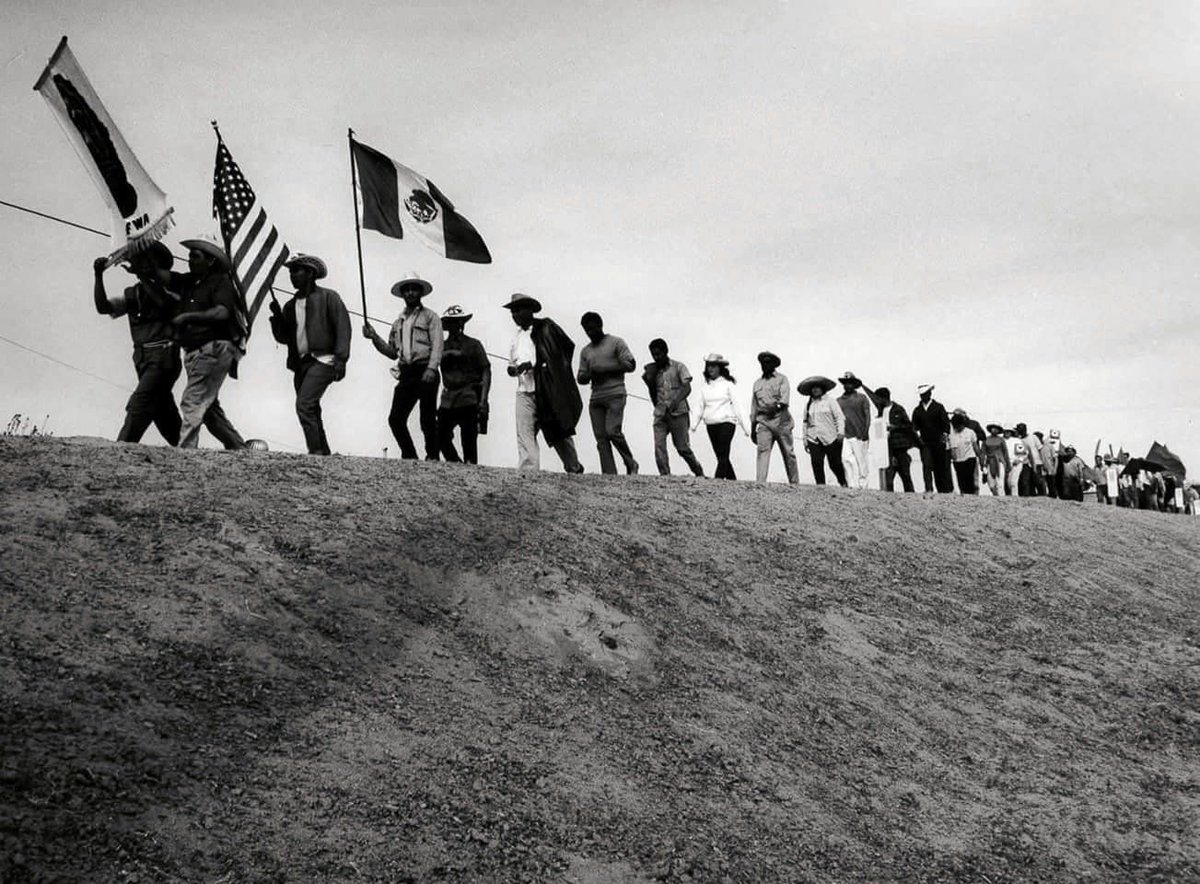
[[[484,237],[432,181],[361,142],[352,142],[352,150],[364,228],[398,240],[407,225],[416,239],[451,260],[492,263]]]

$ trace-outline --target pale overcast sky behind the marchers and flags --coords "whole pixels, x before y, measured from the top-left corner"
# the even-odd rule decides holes
[[[353,127],[432,179],[494,257],[457,264],[365,231],[376,317],[395,318],[389,287],[419,270],[428,306],[474,311],[468,333],[492,353],[514,330],[499,305],[527,291],[580,344],[596,309],[640,362],[653,337],[697,375],[724,353],[746,402],[772,349],[793,385],[850,369],[911,408],[935,383],[947,407],[1061,428],[1088,459],[1097,439],[1138,455],[1158,439],[1200,473],[1195,4],[6,8],[0,199],[107,228],[32,91],[67,35],[175,206],[173,245],[216,230],[215,119],[289,246],[322,255],[358,309]],[[0,335],[131,387],[125,323],[91,307],[106,247],[0,206]],[[245,437],[295,450],[283,359],[264,321],[221,398]],[[59,435],[109,438],[121,425],[126,391],[5,341],[0,379],[5,421],[48,413]],[[391,384],[356,336],[325,398],[335,450],[395,455]],[[486,463],[516,462],[512,389],[500,367]],[[630,389],[643,392],[636,375]],[[647,403],[630,403],[626,431],[653,470]],[[586,416],[578,443],[596,469]],[[752,477],[749,441],[734,453]]]

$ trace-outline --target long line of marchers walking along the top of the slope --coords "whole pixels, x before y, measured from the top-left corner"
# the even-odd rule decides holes
[[[104,288],[106,259],[95,261],[96,309],[128,318],[138,375],[118,439],[139,441],[152,423],[169,445],[194,447],[205,427],[226,449],[250,447],[218,401],[226,378],[236,377],[247,333],[244,302],[229,275],[229,257],[216,239],[184,240],[181,245],[188,249],[187,273],[173,272],[170,251],[154,243],[130,258],[128,270],[137,282],[115,299],[109,299]],[[308,452],[329,455],[320,401],[330,384],[346,377],[349,312],[336,291],[317,284],[328,275],[320,258],[298,254],[286,266],[295,293],[282,306],[272,300],[271,333],[287,348],[296,417]],[[362,335],[394,361],[396,386],[388,425],[401,457],[420,456],[408,429],[415,409],[426,459],[478,463],[478,439],[487,432],[491,363],[484,344],[466,333],[473,314],[458,306],[436,313],[424,306],[432,290],[418,273],[397,281],[391,294],[403,300],[404,307],[390,332],[383,337],[366,321]],[[536,299],[517,293],[503,307],[516,325],[508,374],[516,383],[517,467],[540,468],[540,434],[564,470],[583,473],[574,437],[583,414],[580,386],[588,386],[588,417],[601,473],[616,474],[619,457],[625,473],[636,474],[638,464],[623,428],[629,397],[625,375],[637,369],[629,344],[606,332],[600,314],[589,311],[580,320],[588,343],[572,371],[575,343],[552,319],[538,315],[542,306]],[[1124,452],[1097,452],[1087,464],[1055,429],[1043,434],[1031,432],[1025,423],[980,426],[961,408],[948,413],[934,398],[932,384],[917,389],[918,402],[910,416],[888,387],[872,390],[851,372],[836,381],[812,375],[796,387],[804,397],[797,427],[792,385],[780,373],[782,361],[774,353],[758,354],[761,373],[751,385],[749,415],[744,416],[737,381],[721,354],[704,357],[696,390],[691,372],[671,359],[666,341],[650,341],[642,381],[654,408],[654,461],[660,475],[671,474],[668,440],[694,475],[704,475],[691,449],[691,434],[704,425],[716,458],[716,479],[737,477],[730,455],[740,432],[757,447],[757,482],[767,481],[772,452],[778,447],[787,481],[797,485],[798,429],[817,485],[826,483],[828,468],[839,485],[865,488],[871,474],[871,429],[878,422],[887,446],[887,465],[880,477],[884,491],[894,491],[896,479],[905,492],[916,489],[916,450],[925,492],[978,494],[986,486],[997,497],[1082,501],[1091,488],[1104,504],[1195,511],[1196,491],[1184,486],[1182,477],[1130,459]],[[176,408],[172,391],[182,372],[187,381]],[[842,392],[834,398],[839,385]],[[694,392],[698,395],[695,417],[689,404]]]

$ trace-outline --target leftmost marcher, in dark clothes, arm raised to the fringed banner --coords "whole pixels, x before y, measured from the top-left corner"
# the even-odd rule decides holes
[[[118,441],[140,441],[151,423],[168,445],[179,445],[180,417],[172,389],[182,372],[179,344],[170,324],[179,307],[178,275],[170,272],[170,249],[161,242],[134,254],[128,260],[128,272],[137,283],[125,289],[115,302],[104,291],[107,258],[92,261],[95,283],[92,299],[96,312],[128,317],[130,337],[133,338],[133,368],[138,386],[125,405],[125,423],[116,434]]]

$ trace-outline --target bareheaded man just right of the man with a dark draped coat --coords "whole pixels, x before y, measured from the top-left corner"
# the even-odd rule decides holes
[[[592,385],[588,416],[592,419],[592,433],[600,452],[600,471],[607,476],[617,475],[617,461],[612,456],[612,450],[616,449],[625,464],[625,473],[634,475],[637,473],[637,461],[629,450],[623,425],[625,375],[637,367],[637,361],[623,338],[605,333],[604,319],[599,313],[584,313],[580,325],[588,336],[588,343],[580,350],[580,369],[575,379],[580,384]]]

